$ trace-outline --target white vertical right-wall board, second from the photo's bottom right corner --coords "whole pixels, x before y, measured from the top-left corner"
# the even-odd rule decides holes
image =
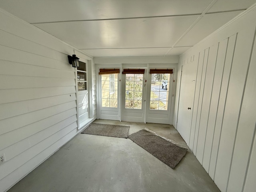
[[[256,30],[254,30],[254,38],[252,48],[250,52],[250,58],[248,62],[248,68],[246,72],[246,78],[244,82],[244,88],[242,92],[242,102],[240,104],[240,111],[238,117],[238,124],[236,127],[235,139],[232,148],[232,159],[230,163],[230,171],[228,175],[227,191],[239,192],[244,187],[243,178],[246,178],[246,172],[248,172],[248,160],[251,158],[252,144],[255,137],[256,124],[256,78],[254,72],[256,71],[255,64],[255,36]],[[244,129],[245,128],[245,129]],[[244,139],[246,138],[246,140]],[[252,141],[252,142],[251,142]],[[253,168],[252,168],[253,169]],[[254,171],[256,169],[254,168]],[[254,187],[256,185],[254,184]]]

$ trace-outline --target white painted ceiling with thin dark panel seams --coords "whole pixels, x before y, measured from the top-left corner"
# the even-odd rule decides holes
[[[0,0],[94,57],[179,56],[256,0]]]

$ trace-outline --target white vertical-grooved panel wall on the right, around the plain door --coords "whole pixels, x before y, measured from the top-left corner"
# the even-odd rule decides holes
[[[255,7],[180,57],[198,63],[186,142],[222,192],[256,189]]]

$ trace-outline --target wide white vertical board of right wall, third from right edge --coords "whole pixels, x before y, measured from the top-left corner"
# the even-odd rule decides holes
[[[250,36],[253,38],[253,35],[254,30],[243,30],[238,33],[230,73],[230,81],[228,84],[215,172],[215,182],[217,186],[225,190],[227,187],[232,160],[232,149],[234,146],[244,83],[252,48],[252,40],[247,37]],[[243,57],[241,57],[241,54]],[[244,64],[242,68],[241,63]]]

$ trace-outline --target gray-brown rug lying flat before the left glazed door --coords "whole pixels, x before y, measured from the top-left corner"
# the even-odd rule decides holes
[[[128,138],[130,126],[92,123],[81,133],[110,137]]]

